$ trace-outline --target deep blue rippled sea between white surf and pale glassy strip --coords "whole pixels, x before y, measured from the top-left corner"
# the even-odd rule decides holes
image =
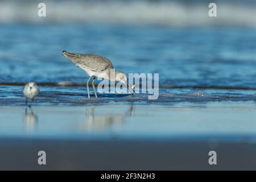
[[[108,57],[115,69],[126,73],[159,73],[159,100],[154,102],[193,101],[201,92],[203,101],[255,100],[254,28],[16,23],[1,24],[0,34],[0,83],[9,85],[1,86],[2,105],[10,97],[22,97],[21,82],[85,83],[86,73],[61,56],[62,50]],[[15,83],[19,86],[11,86]],[[42,100],[51,94],[86,96],[84,85],[41,90]]]

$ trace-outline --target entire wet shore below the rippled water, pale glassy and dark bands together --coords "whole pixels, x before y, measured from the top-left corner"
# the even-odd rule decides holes
[[[1,106],[0,169],[256,169],[255,110],[255,102]]]

